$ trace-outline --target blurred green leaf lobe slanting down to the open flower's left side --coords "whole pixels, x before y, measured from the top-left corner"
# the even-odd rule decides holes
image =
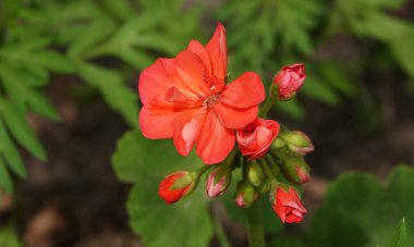
[[[137,125],[137,96],[123,84],[121,74],[88,63],[80,63],[78,70],[81,77],[96,87],[113,110],[121,113],[131,126]]]

